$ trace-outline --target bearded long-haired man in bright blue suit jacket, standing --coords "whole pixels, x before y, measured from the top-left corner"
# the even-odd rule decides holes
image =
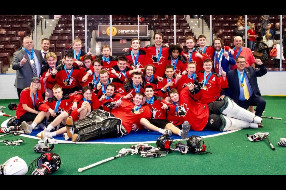
[[[235,65],[235,60],[231,53],[224,50],[224,44],[222,39],[215,38],[212,41],[212,47],[215,48],[212,60],[214,61],[213,70],[221,75],[221,67],[225,72],[230,71],[229,65]]]

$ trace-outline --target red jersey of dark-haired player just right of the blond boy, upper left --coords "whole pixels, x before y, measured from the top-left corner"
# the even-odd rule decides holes
[[[49,75],[48,82],[57,84],[63,89],[74,88],[79,85],[79,81],[83,79],[82,72],[77,66],[72,66],[72,70],[65,70],[64,65],[57,66],[57,74]],[[72,72],[72,73],[71,73]]]

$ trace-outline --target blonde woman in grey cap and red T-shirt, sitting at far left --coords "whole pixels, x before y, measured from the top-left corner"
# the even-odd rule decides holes
[[[20,122],[32,122],[38,113],[38,105],[43,101],[41,82],[38,77],[33,77],[31,86],[25,88],[20,94],[20,101],[16,110]]]

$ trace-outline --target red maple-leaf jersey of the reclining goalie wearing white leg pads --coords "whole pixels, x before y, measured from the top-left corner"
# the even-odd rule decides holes
[[[175,115],[173,112],[168,112],[168,120],[175,125],[188,121],[191,125],[190,129],[202,131],[209,119],[209,107],[207,104],[203,104],[199,101],[202,96],[202,90],[199,91],[201,87],[198,81],[195,83],[197,87],[194,92],[190,92],[188,87],[185,87],[181,91],[178,110],[175,110],[178,115]],[[194,94],[197,91],[198,93]],[[177,107],[177,105],[172,106]]]

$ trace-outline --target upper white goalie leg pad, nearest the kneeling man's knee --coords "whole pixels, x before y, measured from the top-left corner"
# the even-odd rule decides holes
[[[237,118],[243,121],[248,121],[248,122],[254,121],[259,124],[262,121],[260,117],[255,116],[254,113],[251,113],[250,111],[243,109],[242,107],[237,105],[233,100],[231,100],[228,96],[224,98],[224,104],[220,108],[220,112],[228,117]]]

